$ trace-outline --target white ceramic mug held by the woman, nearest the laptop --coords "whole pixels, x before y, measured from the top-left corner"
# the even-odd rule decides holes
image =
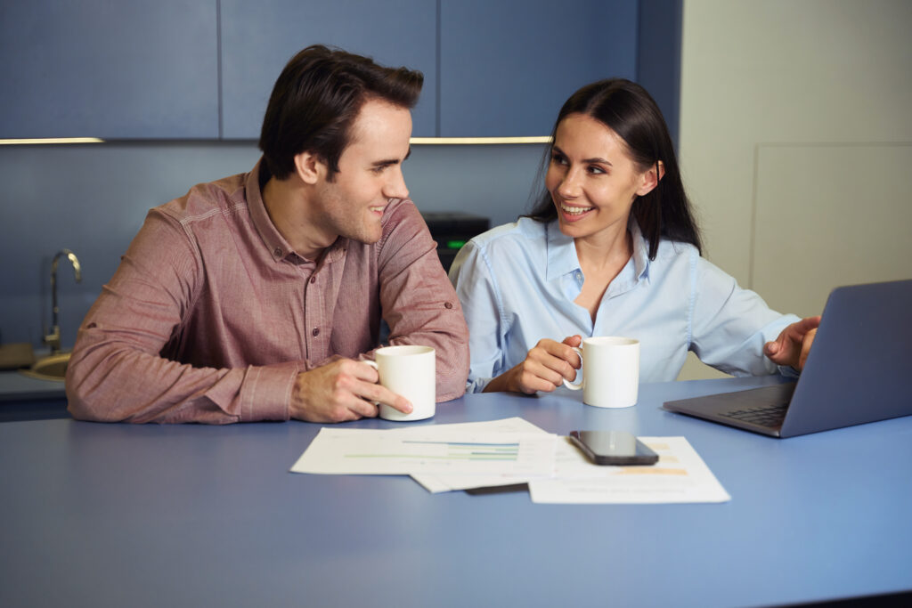
[[[582,350],[583,380],[564,385],[583,389],[583,403],[596,407],[630,407],[637,403],[639,340],[613,335],[586,338]]]

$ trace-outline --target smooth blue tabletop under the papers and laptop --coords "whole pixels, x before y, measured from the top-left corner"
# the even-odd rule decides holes
[[[660,409],[778,381],[644,385],[619,410],[564,390],[470,395],[409,423],[684,436],[721,504],[536,505],[298,475],[321,425],[296,421],[0,424],[0,605],[745,606],[912,589],[912,417],[774,439]]]

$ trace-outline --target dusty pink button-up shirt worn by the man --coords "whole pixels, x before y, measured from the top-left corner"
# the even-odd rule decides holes
[[[373,244],[339,238],[319,265],[269,219],[260,164],[152,209],[79,329],[74,417],[130,422],[286,420],[298,372],[389,344],[433,346],[437,399],[460,397],[468,330],[411,201]]]

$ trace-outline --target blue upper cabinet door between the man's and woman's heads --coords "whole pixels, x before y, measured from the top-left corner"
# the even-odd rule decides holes
[[[440,136],[550,135],[566,98],[637,73],[634,0],[440,0]]]

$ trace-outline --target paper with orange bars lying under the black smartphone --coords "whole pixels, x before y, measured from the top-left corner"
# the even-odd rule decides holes
[[[648,467],[593,464],[567,438],[558,439],[553,479],[530,479],[533,502],[648,504],[731,500],[696,450],[683,437],[641,437],[658,453]]]

